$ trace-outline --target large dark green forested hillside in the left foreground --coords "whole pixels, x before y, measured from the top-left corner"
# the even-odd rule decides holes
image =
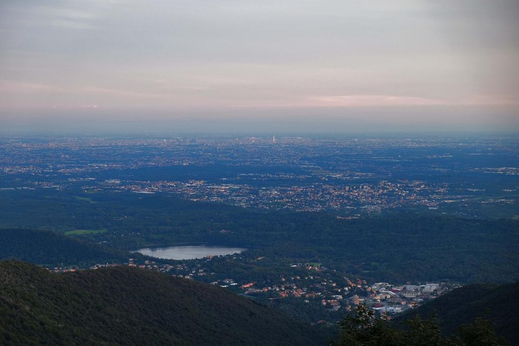
[[[221,287],[144,269],[53,274],[0,261],[0,344],[325,343],[312,328]]]

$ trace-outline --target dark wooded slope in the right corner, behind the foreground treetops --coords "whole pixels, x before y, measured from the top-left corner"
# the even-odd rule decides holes
[[[472,284],[452,290],[416,309],[427,317],[438,314],[445,334],[454,334],[461,324],[471,323],[476,317],[489,316],[495,322],[497,335],[507,338],[513,345],[519,344],[519,282],[489,285]],[[414,312],[399,317],[410,319]]]

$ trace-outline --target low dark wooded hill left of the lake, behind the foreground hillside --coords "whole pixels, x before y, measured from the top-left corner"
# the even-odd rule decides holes
[[[124,262],[125,251],[108,250],[62,234],[33,229],[0,229],[0,259],[17,259],[46,266],[90,266]]]

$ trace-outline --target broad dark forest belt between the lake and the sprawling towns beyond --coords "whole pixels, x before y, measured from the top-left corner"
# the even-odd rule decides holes
[[[261,248],[270,257],[323,262],[377,281],[519,279],[518,220],[396,212],[346,220],[189,202],[167,193],[85,196],[91,200],[67,191],[3,193],[0,224],[59,232],[107,228],[83,239],[128,250],[197,243]]]

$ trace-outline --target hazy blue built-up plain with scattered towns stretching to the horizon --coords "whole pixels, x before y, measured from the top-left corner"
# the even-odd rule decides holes
[[[0,190],[174,193],[192,201],[338,217],[410,209],[517,213],[513,139],[0,138]],[[508,162],[495,165],[495,159]]]

